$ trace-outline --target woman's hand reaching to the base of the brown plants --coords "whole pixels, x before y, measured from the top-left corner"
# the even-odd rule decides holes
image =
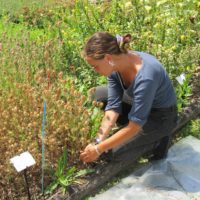
[[[96,148],[94,144],[87,145],[84,151],[80,151],[80,159],[86,163],[95,161],[99,157]]]

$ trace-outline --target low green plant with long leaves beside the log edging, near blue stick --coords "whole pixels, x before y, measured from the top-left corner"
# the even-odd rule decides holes
[[[84,169],[77,171],[76,167],[69,167],[67,160],[67,150],[64,149],[63,155],[58,161],[58,166],[55,171],[55,180],[47,187],[45,194],[52,193],[58,186],[61,186],[63,192],[68,190],[68,187],[76,183],[78,177],[84,176],[93,172],[92,169]]]

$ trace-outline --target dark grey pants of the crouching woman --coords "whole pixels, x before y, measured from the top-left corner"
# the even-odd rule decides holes
[[[107,104],[108,91],[106,86],[96,88],[93,99],[103,102],[105,108]],[[118,125],[128,124],[128,113],[132,107],[131,99],[124,94],[122,99],[122,114],[117,120]],[[171,133],[177,122],[176,106],[170,108],[153,108],[149,114],[147,122],[142,127],[142,130],[125,146],[137,148],[148,144],[155,144],[153,151],[153,159],[161,159],[167,155],[167,151],[171,142]],[[123,149],[123,148],[122,148]],[[120,149],[119,149],[120,151]]]

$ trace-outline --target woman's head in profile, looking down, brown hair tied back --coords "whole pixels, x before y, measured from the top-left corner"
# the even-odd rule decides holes
[[[128,52],[130,41],[130,34],[115,37],[107,32],[97,32],[87,41],[83,55],[95,71],[108,76],[115,70],[115,58]]]

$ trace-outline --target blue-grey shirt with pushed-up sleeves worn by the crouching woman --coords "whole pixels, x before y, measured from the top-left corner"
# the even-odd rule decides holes
[[[152,108],[167,108],[176,104],[172,83],[162,64],[152,55],[135,52],[142,59],[142,66],[128,88],[125,88],[118,72],[108,77],[108,103],[105,110],[122,112],[124,92],[130,97],[132,108],[130,121],[143,126]]]

